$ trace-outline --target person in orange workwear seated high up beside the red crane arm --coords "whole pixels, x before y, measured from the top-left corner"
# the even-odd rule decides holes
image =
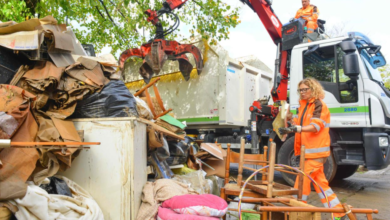
[[[306,20],[307,33],[313,33],[318,28],[317,20],[320,11],[317,6],[311,5],[310,0],[302,0],[302,8],[297,11],[295,19]]]

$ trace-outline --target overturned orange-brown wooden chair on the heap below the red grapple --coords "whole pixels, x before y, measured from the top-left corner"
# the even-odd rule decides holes
[[[172,109],[166,110],[164,107],[164,104],[162,102],[160,92],[157,89],[156,83],[160,80],[160,77],[150,81],[146,86],[141,88],[138,92],[134,94],[134,96],[140,96],[143,100],[146,101],[146,104],[148,104],[150,111],[153,114],[153,119],[156,120],[157,118],[164,116],[168,114]],[[151,97],[150,93],[148,91],[149,87],[153,86],[154,95],[155,97]]]

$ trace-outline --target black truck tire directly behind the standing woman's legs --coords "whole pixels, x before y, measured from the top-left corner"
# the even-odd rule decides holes
[[[282,145],[282,147],[279,150],[278,153],[278,163],[279,164],[286,164],[292,167],[299,167],[299,158],[300,156],[294,155],[294,140],[295,136],[288,138]],[[326,179],[331,182],[336,174],[337,171],[337,164],[335,163],[333,159],[333,155],[330,155],[328,157],[328,160],[326,161],[324,165],[324,173],[326,176]],[[294,186],[296,175],[283,173],[282,172],[283,179],[290,185]]]

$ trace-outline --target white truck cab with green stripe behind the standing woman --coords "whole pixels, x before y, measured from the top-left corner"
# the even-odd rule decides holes
[[[346,37],[302,43],[291,49],[291,112],[296,114],[299,107],[297,86],[302,79],[315,78],[325,90],[333,152],[325,165],[328,179],[348,177],[359,165],[379,170],[390,163],[390,91],[378,71],[386,64],[380,48],[367,36],[352,32]],[[279,158],[291,157],[289,163],[294,165],[293,154],[282,150],[291,148],[287,146],[291,144],[293,141],[287,140],[280,146],[279,153],[285,155]]]

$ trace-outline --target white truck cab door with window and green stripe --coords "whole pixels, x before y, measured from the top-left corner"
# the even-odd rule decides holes
[[[368,118],[362,77],[351,80],[344,75],[344,52],[337,45],[302,53],[303,78],[317,79],[325,90],[324,102],[331,113],[331,127],[364,127]]]

